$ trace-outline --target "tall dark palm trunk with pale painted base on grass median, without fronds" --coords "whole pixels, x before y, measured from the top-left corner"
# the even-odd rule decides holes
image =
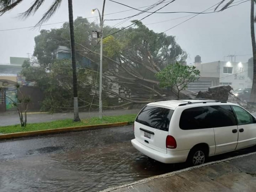
[[[77,76],[76,76],[76,56],[75,56],[75,35],[73,24],[73,7],[72,0],[68,0],[68,16],[69,16],[69,29],[70,29],[70,48],[73,69],[73,92],[74,92],[74,121],[81,121],[78,114],[78,101],[77,101]]]

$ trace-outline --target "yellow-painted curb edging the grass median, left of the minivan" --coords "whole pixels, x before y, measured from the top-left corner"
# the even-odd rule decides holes
[[[52,133],[62,133],[62,132],[82,131],[82,130],[90,130],[90,129],[110,128],[110,127],[116,127],[116,126],[124,126],[124,125],[128,125],[128,124],[129,124],[129,122],[120,122],[120,123],[111,123],[111,124],[98,124],[98,125],[66,127],[66,128],[58,128],[58,129],[48,129],[48,130],[40,130],[40,131],[17,132],[17,133],[1,134],[0,135],[0,140],[1,139],[13,139],[13,138],[18,138],[18,137],[47,135],[47,134],[52,134]]]

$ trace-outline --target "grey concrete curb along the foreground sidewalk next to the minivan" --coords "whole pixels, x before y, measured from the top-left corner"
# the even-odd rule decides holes
[[[197,166],[194,166],[194,167],[188,167],[188,168],[181,169],[181,170],[178,170],[178,171],[169,172],[169,173],[165,173],[165,174],[162,174],[162,175],[156,175],[156,176],[149,177],[149,178],[142,179],[142,180],[138,180],[138,181],[135,181],[135,182],[132,182],[132,183],[128,183],[128,184],[124,184],[124,185],[104,189],[104,190],[101,190],[99,192],[111,192],[111,191],[114,191],[114,190],[117,190],[117,189],[129,187],[129,186],[136,185],[136,184],[139,184],[139,183],[145,183],[145,182],[148,182],[150,180],[160,179],[160,178],[176,175],[176,174],[181,173],[181,172],[186,172],[186,171],[189,171],[189,170],[192,170],[192,169],[198,169],[200,167],[209,166],[209,165],[217,164],[217,163],[222,163],[222,162],[229,161],[229,160],[232,160],[232,159],[237,159],[237,158],[250,156],[250,155],[254,155],[254,154],[256,154],[256,152],[252,152],[252,153],[248,153],[248,154],[244,154],[244,155],[239,155],[239,156],[235,156],[235,157],[229,157],[227,159],[222,159],[222,160],[218,160],[218,161],[212,161],[212,162],[209,162],[209,163],[206,163],[206,164],[197,165]]]

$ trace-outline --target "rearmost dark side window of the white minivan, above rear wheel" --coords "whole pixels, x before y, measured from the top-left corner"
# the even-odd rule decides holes
[[[185,109],[180,116],[180,129],[204,129],[209,128],[210,124],[206,117],[209,116],[208,107],[194,107]]]

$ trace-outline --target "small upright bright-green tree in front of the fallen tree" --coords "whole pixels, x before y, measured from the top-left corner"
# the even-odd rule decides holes
[[[175,86],[178,93],[175,93],[180,98],[180,91],[188,88],[188,84],[194,82],[200,77],[200,71],[195,66],[168,65],[162,71],[156,73],[156,78],[160,81],[160,87],[168,88]]]

